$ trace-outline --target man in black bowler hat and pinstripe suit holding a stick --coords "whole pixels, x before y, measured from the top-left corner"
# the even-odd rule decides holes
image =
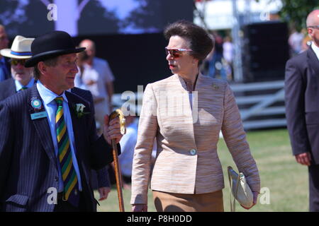
[[[89,103],[65,92],[83,50],[67,32],[36,38],[25,66],[37,83],[0,102],[0,210],[96,211],[89,171],[113,161],[111,140],[122,135],[106,116],[98,137]]]

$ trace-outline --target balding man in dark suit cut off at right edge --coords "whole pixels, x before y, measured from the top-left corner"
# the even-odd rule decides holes
[[[319,211],[319,10],[306,23],[312,44],[286,63],[286,119],[293,155],[308,166],[309,210]]]

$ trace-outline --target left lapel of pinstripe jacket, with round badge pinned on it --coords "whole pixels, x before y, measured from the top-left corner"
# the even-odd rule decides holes
[[[45,111],[45,108],[43,106],[43,100],[40,97],[40,94],[38,92],[38,89],[36,88],[36,85],[33,85],[32,88],[30,88],[30,93],[28,97],[28,112],[30,117],[30,114],[33,114],[35,112],[38,112],[38,110],[34,109],[31,105],[31,102],[35,99],[38,99],[42,102],[42,109],[40,111]],[[35,126],[35,131],[38,133],[38,137],[43,145],[43,148],[45,149],[45,153],[47,153],[47,156],[52,160],[57,167],[57,161],[55,157],[55,148],[52,142],[52,136],[50,133],[50,126],[47,121],[47,117],[40,118],[40,119],[33,119],[33,125]]]

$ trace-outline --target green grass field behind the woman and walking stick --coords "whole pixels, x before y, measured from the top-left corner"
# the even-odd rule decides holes
[[[259,168],[262,188],[266,187],[270,191],[270,203],[265,203],[266,194],[261,194],[256,206],[245,210],[236,204],[236,211],[308,211],[308,168],[298,165],[291,154],[288,131],[286,129],[250,131],[247,133],[247,139]],[[223,139],[220,139],[218,143],[218,155],[224,170],[224,208],[225,211],[230,211],[229,182],[226,170],[228,165],[237,168]],[[95,192],[95,195],[98,199],[99,194]],[[156,211],[150,191],[148,197],[148,211]],[[125,211],[131,211],[130,190],[123,190],[123,198]],[[98,211],[118,212],[118,196],[115,187],[108,195],[108,199],[101,201],[100,204]]]

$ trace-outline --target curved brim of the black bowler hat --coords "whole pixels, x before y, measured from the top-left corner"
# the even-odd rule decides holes
[[[65,55],[65,54],[76,54],[78,52],[83,52],[84,50],[85,50],[85,47],[76,48],[76,49],[57,49],[57,50],[53,50],[49,52],[43,52],[28,59],[28,61],[26,61],[26,64],[24,66],[26,68],[30,68],[38,64],[38,62],[40,61],[45,61],[46,59],[58,57],[60,55]]]

